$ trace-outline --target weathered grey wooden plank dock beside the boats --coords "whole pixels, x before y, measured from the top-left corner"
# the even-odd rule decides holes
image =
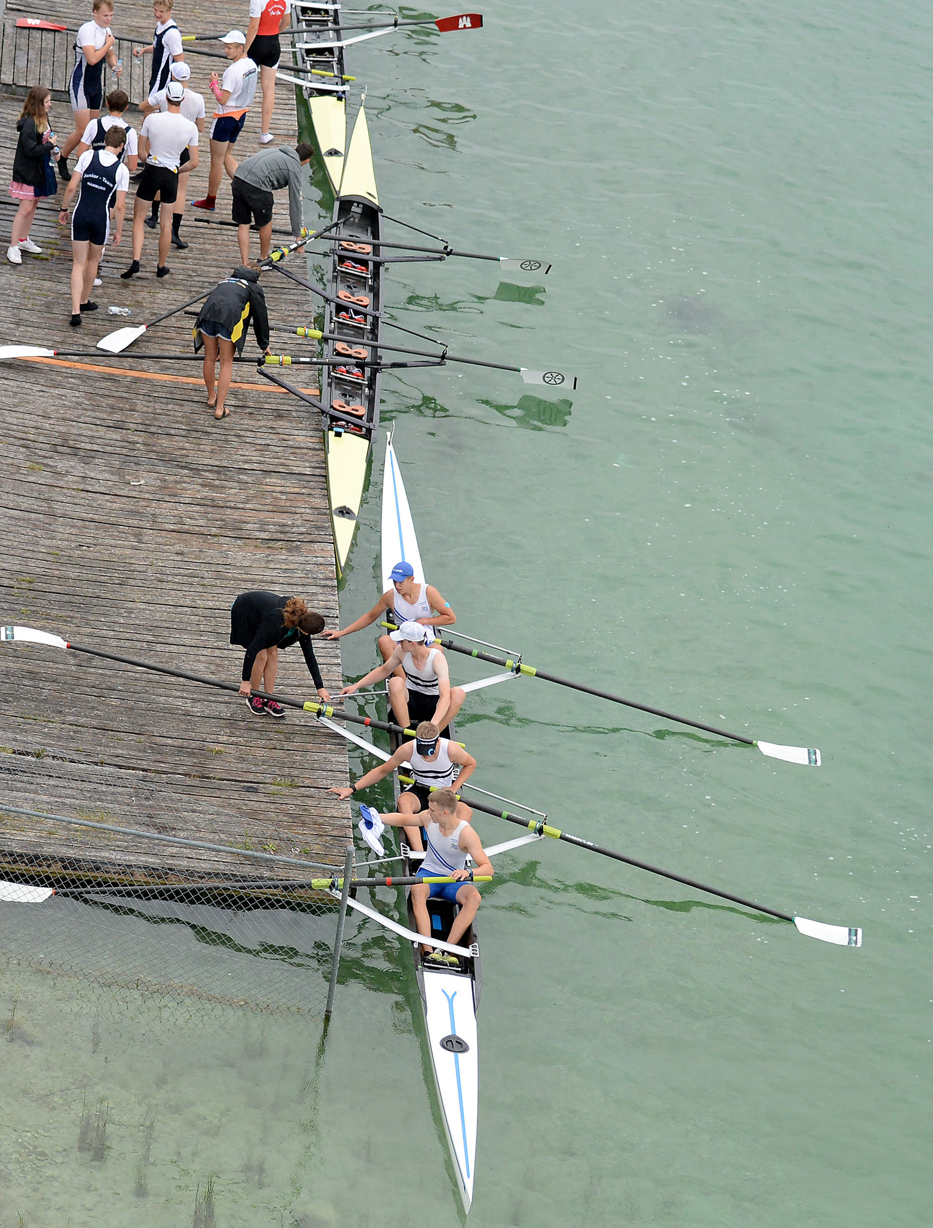
[[[177,6],[176,20],[185,31],[210,29],[217,23],[214,7]],[[76,25],[85,9],[56,2],[42,15]],[[7,10],[7,21],[15,16]],[[137,0],[122,2],[118,16],[119,33],[151,29],[151,7]],[[190,64],[193,87],[207,93],[220,61],[190,56]],[[20,99],[0,99],[7,181],[20,107]],[[56,102],[60,140],[69,120],[66,104]],[[134,126],[139,122],[136,115]],[[281,84],[273,131],[282,142],[297,139],[293,93]],[[259,147],[258,134],[259,95],[237,146],[242,156]],[[190,199],[206,189],[206,133],[203,149],[182,227],[189,249],[173,248],[172,274],[157,281],[156,237],[147,231],[142,273],[124,282],[128,223],[122,244],[104,255],[103,285],[95,292],[99,311],[81,328],[69,327],[71,253],[56,223],[60,194],[41,205],[33,226],[43,255],[23,254],[21,266],[2,257],[15,211],[4,199],[0,344],[93,351],[103,334],[152,319],[227,275],[239,263],[236,232],[192,220]],[[133,190],[128,220],[131,203]],[[215,217],[230,217],[226,177]],[[287,228],[287,193],[277,196],[275,225]],[[302,258],[295,260],[303,273]],[[312,319],[303,290],[275,273],[264,274],[263,285],[274,323]],[[110,305],[133,314],[109,316]],[[0,363],[0,623],[238,682],[242,650],[228,639],[230,605],[239,592],[298,594],[328,625],[338,621],[320,424],[247,363],[234,372],[231,416],[215,422],[198,362],[142,361],[146,354],[192,354],[190,327],[190,318],[173,317],[117,357],[96,351],[68,362]],[[258,354],[254,340],[246,354]],[[317,641],[316,648],[325,684],[336,693],[339,647]],[[290,856],[300,850],[318,862],[343,863],[351,842],[349,807],[327,788],[347,779],[346,748],[312,717],[290,711],[285,721],[258,718],[232,695],[60,650],[5,645],[0,662],[0,744],[44,756],[49,769],[44,776],[0,769],[0,810],[5,798],[21,809],[151,824],[189,839]],[[276,689],[317,698],[297,647],[281,655]],[[22,755],[2,759],[14,768],[26,763]],[[53,770],[61,759],[93,769]],[[144,797],[156,802],[141,804]],[[0,815],[0,871],[26,855],[43,862],[80,855],[101,866],[117,857],[112,839],[87,829],[75,834]],[[145,841],[124,841],[119,861],[122,873],[134,865],[243,873],[237,858],[227,863],[221,855]],[[306,877],[285,866],[263,873]]]

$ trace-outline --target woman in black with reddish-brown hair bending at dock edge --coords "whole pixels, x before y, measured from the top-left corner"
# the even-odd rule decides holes
[[[239,694],[247,699],[254,716],[276,716],[279,720],[285,716],[281,704],[274,699],[259,699],[252,695],[252,690],[255,688],[273,694],[279,672],[279,650],[296,641],[304,653],[304,663],[318,695],[325,704],[330,700],[311,643],[312,635],[319,635],[323,629],[324,619],[309,610],[301,597],[280,597],[263,588],[253,588],[237,597],[230,608],[230,642],[247,650]]]

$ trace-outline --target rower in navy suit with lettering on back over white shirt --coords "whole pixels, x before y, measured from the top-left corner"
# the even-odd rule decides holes
[[[126,208],[126,190],[130,173],[123,165],[126,130],[118,125],[104,135],[102,150],[87,150],[75,165],[71,182],[65,189],[59,222],[68,222],[68,210],[75,193],[77,204],[71,216],[71,325],[81,324],[81,313],[97,311],[90,301],[91,286],[97,276],[97,265],[110,233],[110,204],[114,204],[117,247],[123,237],[123,214]]]

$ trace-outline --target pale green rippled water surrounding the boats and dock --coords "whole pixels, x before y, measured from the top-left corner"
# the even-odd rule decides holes
[[[581,377],[563,399],[387,377],[428,575],[468,634],[823,768],[523,679],[468,702],[478,782],[864,946],[552,841],[502,860],[470,1222],[928,1223],[929,16],[513,0],[486,22],[349,60],[390,214],[554,260],[395,266],[394,318]],[[379,591],[381,465],[346,621]],[[344,647],[347,675],[374,663]],[[455,1224],[406,959],[351,926],[323,1052],[291,1019],[180,1027],[0,973],[2,1100],[29,1124],[0,1126],[0,1224],[187,1224],[207,1175],[225,1228]],[[85,1089],[115,1105],[102,1162],[76,1151]]]

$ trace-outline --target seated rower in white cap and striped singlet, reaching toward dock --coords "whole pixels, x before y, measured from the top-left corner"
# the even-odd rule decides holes
[[[385,663],[371,669],[358,683],[345,686],[340,694],[352,695],[361,686],[388,678],[389,702],[401,728],[408,729],[410,721],[432,721],[443,733],[460,711],[466,691],[451,686],[443,652],[425,642],[432,634],[422,623],[403,623],[398,631],[389,634],[394,647]],[[399,667],[404,677],[390,678]]]

